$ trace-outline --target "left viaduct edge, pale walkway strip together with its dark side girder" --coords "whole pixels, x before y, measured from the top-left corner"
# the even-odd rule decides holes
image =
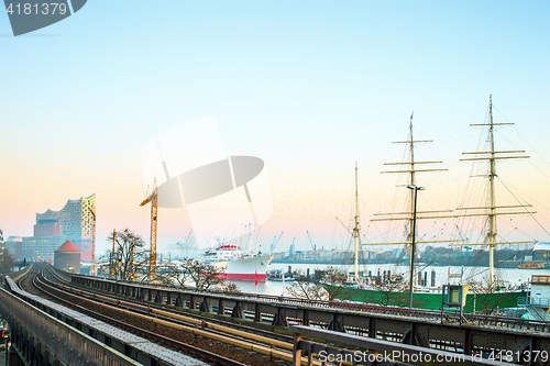
[[[103,340],[98,337],[97,320],[73,312],[73,320],[78,318],[80,324],[74,328],[68,324],[68,317],[62,315],[58,306],[23,291],[10,277],[6,282],[11,293],[0,288],[0,309],[9,321],[13,348],[24,364],[206,366],[135,335],[121,339],[122,332],[114,329],[110,330],[107,344],[107,335],[103,334]],[[86,332],[82,324],[88,326]],[[95,332],[89,332],[92,329]]]

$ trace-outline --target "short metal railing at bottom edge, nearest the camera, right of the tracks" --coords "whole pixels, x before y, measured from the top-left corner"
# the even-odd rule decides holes
[[[294,333],[295,366],[304,365],[494,365],[509,366],[509,363],[432,350],[416,345],[367,339],[341,332],[310,326],[290,326]],[[306,340],[322,340],[322,343]],[[337,346],[338,345],[338,346]]]

